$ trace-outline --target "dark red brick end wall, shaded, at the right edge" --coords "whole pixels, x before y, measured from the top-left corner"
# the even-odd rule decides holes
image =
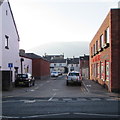
[[[120,9],[111,10],[111,88],[120,90]]]

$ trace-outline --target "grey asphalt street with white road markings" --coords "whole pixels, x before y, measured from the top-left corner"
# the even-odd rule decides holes
[[[117,119],[120,117],[119,100],[117,94],[108,93],[98,84],[90,85],[85,80],[82,86],[66,86],[66,76],[63,75],[37,80],[33,87],[17,87],[10,92],[3,92],[3,119]]]

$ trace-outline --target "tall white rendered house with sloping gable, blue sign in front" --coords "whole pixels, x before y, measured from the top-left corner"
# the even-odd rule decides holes
[[[10,3],[4,0],[0,3],[0,71],[10,71],[11,67],[14,82],[19,66],[19,34]]]

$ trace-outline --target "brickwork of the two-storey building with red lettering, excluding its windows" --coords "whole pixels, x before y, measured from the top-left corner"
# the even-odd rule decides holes
[[[90,43],[90,56],[91,56],[91,47],[95,44],[96,40],[100,39],[100,35],[104,35],[104,31],[109,26],[110,30],[110,46],[107,49],[104,49],[102,52],[99,52],[100,55],[99,61],[94,61],[95,56],[90,57],[90,79],[98,80],[100,84],[106,84],[109,91],[120,90],[120,9],[112,9],[108,13],[106,19],[102,23],[100,29],[96,33],[95,37]],[[110,62],[110,79],[109,81],[102,81],[100,78],[92,76],[92,67],[94,63],[99,63],[102,61],[105,63],[105,60]],[[105,69],[104,69],[105,71]]]

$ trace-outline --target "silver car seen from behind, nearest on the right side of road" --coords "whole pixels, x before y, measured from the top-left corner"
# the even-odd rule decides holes
[[[67,74],[67,80],[66,80],[66,85],[68,86],[69,84],[77,84],[81,86],[82,83],[82,77],[81,74],[77,71],[72,71]]]

